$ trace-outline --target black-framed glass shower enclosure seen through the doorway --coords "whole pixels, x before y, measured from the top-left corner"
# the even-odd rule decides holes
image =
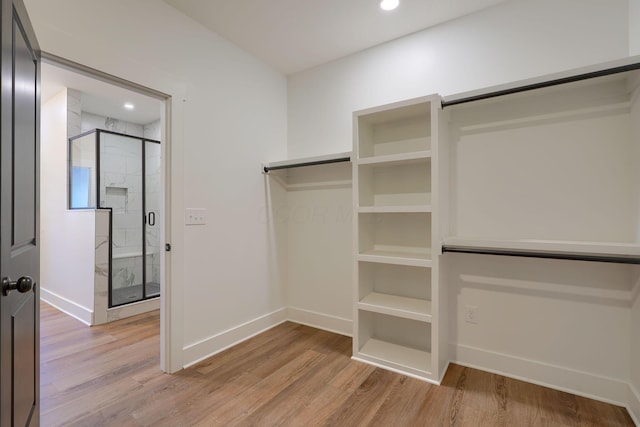
[[[160,296],[160,141],[106,130],[69,139],[69,208],[109,209],[109,307]]]

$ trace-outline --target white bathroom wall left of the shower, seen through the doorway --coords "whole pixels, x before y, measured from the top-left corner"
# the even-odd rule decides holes
[[[67,210],[67,90],[42,105],[40,287],[42,297],[85,323],[93,313],[95,218]]]

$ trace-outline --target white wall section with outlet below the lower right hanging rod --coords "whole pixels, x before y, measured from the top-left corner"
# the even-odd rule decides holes
[[[630,268],[446,255],[450,357],[460,363],[624,403],[630,375]],[[576,263],[580,263],[576,265]],[[478,323],[464,321],[478,307]]]

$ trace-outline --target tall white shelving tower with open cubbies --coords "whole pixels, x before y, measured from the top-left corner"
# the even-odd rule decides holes
[[[434,382],[439,117],[438,96],[358,111],[353,159],[353,357]]]

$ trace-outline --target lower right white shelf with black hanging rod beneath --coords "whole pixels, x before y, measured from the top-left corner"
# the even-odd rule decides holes
[[[448,252],[640,264],[640,244],[565,240],[494,240],[450,237]]]

